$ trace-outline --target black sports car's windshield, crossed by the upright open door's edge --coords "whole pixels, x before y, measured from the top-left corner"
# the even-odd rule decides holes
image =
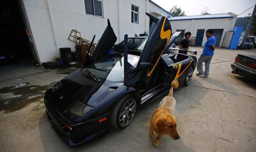
[[[133,67],[137,66],[138,60],[139,56],[128,54],[128,62]],[[124,82],[124,56],[119,53],[104,56],[86,66],[86,68],[91,74],[106,79],[108,83]]]

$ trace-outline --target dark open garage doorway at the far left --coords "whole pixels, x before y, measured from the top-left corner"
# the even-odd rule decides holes
[[[38,64],[20,0],[0,2],[0,68]],[[9,67],[11,68],[11,67]]]

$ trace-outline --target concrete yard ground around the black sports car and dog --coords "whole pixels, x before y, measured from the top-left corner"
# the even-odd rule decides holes
[[[191,49],[199,57],[202,48]],[[51,127],[43,95],[75,69],[23,69],[17,71],[18,77],[13,76],[15,72],[12,76],[1,73],[0,151],[256,152],[256,84],[231,73],[230,64],[238,53],[256,54],[256,50],[218,48],[209,78],[198,77],[194,71],[191,85],[175,90],[181,139],[163,136],[158,148],[153,146],[156,136],[148,137],[146,123],[162,98],[142,107],[126,129],[112,128],[98,140],[70,148]],[[25,86],[17,86],[19,83]]]

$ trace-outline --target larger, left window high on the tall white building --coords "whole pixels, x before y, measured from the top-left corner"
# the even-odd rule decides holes
[[[102,0],[84,0],[86,14],[103,17]]]

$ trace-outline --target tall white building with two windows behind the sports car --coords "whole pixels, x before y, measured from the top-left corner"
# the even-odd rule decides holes
[[[119,43],[125,34],[148,33],[145,12],[171,16],[151,0],[21,0],[20,5],[40,64],[54,61],[60,48],[74,48],[67,40],[72,29],[87,40],[95,34],[97,43],[109,19]]]

